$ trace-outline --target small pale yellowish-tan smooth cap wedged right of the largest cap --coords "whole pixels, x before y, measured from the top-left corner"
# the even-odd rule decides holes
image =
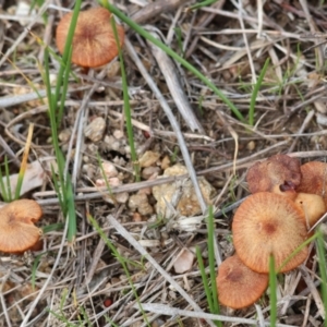
[[[313,227],[326,213],[324,198],[320,195],[298,193],[294,199],[304,213],[306,228]]]

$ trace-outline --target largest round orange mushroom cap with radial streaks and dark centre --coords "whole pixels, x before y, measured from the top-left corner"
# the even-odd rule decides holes
[[[279,194],[259,192],[250,195],[235,211],[232,232],[241,261],[257,272],[269,271],[270,254],[280,272],[294,269],[307,256],[305,246],[281,267],[305,241],[306,226],[303,210]]]

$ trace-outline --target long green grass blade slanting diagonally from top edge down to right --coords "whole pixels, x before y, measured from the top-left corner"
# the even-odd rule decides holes
[[[167,55],[169,55],[171,58],[173,58],[175,61],[181,63],[186,70],[192,72],[197,78],[199,78],[204,84],[206,84],[234,113],[234,116],[242,122],[245,122],[244,117],[239,111],[239,109],[225,96],[225,94],[218,89],[215,84],[209,81],[206,76],[204,76],[195,66],[193,66],[191,63],[189,63],[185,59],[180,57],[177,52],[174,52],[172,49],[167,47],[165,44],[162,44],[160,40],[156,39],[153,35],[147,33],[144,28],[142,28],[138,24],[133,22],[131,19],[129,19],[126,15],[124,15],[119,9],[117,9],[114,5],[110,4],[108,1],[105,0],[98,0],[104,7],[109,9],[110,12],[112,12],[114,15],[117,15],[121,21],[123,21],[125,24],[128,24],[131,28],[133,28],[137,34],[145,37],[149,41],[152,41],[154,45],[159,47],[161,50],[164,50]]]

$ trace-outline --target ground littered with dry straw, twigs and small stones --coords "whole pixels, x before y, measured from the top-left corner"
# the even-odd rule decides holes
[[[250,166],[275,154],[302,164],[326,160],[325,2],[218,0],[192,9],[199,1],[112,1],[207,77],[240,114],[181,62],[124,25],[141,165],[136,181],[119,60],[88,71],[73,64],[58,130],[75,196],[73,244],[66,242],[51,173],[47,99],[35,89],[45,96],[46,46],[53,49],[49,68],[56,86],[56,26],[74,1],[36,1],[31,10],[32,2],[0,0],[0,160],[2,173],[5,158],[9,174],[19,172],[34,124],[28,162],[40,166],[28,166],[32,177],[21,197],[43,207],[37,223],[43,249],[0,252],[0,326],[215,326],[194,254],[197,245],[208,267],[207,205],[214,206],[219,265],[234,252],[233,204],[249,195]],[[82,10],[97,5],[83,1]],[[191,266],[183,269],[185,253]],[[323,326],[317,272],[314,259],[310,268],[278,277],[278,326]],[[269,326],[269,291],[247,308],[220,310],[222,326]]]

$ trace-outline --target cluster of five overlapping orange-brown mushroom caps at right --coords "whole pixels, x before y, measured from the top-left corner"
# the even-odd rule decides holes
[[[290,271],[306,259],[307,246],[300,246],[327,208],[327,164],[301,166],[296,158],[275,155],[252,166],[246,181],[252,195],[232,222],[237,254],[219,266],[216,279],[220,303],[232,308],[246,307],[262,296],[270,255],[277,272]]]

